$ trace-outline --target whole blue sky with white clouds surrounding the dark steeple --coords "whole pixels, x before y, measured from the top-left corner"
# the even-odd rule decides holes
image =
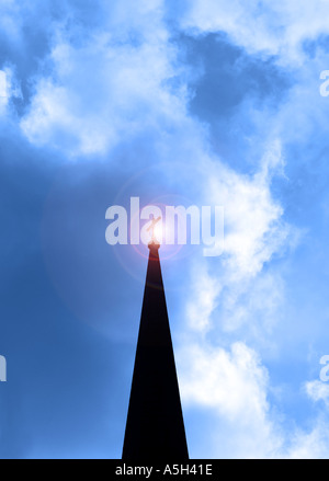
[[[0,1],[1,458],[118,458],[139,196],[220,205],[162,260],[190,455],[327,458],[329,5]],[[164,252],[164,251],[162,251]]]

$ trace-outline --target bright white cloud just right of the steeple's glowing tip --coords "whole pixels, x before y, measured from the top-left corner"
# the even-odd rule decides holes
[[[271,195],[271,173],[282,158],[270,146],[253,176],[214,169],[208,196],[214,205],[225,206],[225,253],[230,280],[257,275],[285,243],[288,228],[282,221],[283,208]],[[270,153],[269,153],[270,152]]]

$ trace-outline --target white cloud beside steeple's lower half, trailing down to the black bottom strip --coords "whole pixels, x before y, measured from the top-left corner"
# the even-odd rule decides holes
[[[270,419],[269,375],[253,350],[243,343],[228,352],[192,344],[179,365],[184,405],[214,411],[212,457],[277,456],[282,439]]]

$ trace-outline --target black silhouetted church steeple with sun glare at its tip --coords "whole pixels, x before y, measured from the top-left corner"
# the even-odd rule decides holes
[[[123,460],[189,459],[159,248],[152,237]]]

